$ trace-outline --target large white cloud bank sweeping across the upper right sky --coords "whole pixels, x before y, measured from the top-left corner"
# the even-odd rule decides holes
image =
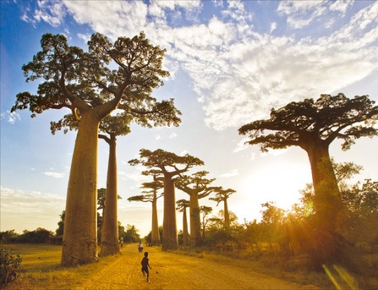
[[[228,3],[224,20],[213,16],[208,23],[193,21],[179,27],[168,25],[167,13],[201,9],[198,1],[64,3],[78,23],[87,23],[111,38],[144,30],[151,43],[166,47],[164,65],[174,71],[181,65],[188,73],[197,100],[203,102],[205,123],[219,131],[267,118],[271,107],[337,91],[377,69],[378,2],[357,12],[331,35],[299,39],[295,34],[257,34],[253,15],[241,1]],[[299,29],[326,19],[326,13],[344,14],[348,5],[352,3],[282,1],[277,12]],[[326,20],[324,25],[331,27],[332,19]],[[271,23],[271,31],[274,28]]]

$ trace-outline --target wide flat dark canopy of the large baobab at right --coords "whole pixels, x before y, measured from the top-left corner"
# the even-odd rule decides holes
[[[368,96],[346,98],[321,95],[316,101],[305,99],[291,102],[280,109],[271,109],[269,120],[258,120],[238,129],[239,134],[248,134],[248,144],[260,144],[263,152],[268,148],[282,149],[300,146],[307,149],[309,139],[320,139],[329,145],[335,139],[344,140],[346,150],[360,137],[377,135],[374,127],[378,107]],[[265,130],[276,133],[265,133]]]

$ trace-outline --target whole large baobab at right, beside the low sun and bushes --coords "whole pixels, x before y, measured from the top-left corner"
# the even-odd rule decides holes
[[[238,129],[239,134],[249,136],[248,144],[260,144],[263,152],[289,146],[299,146],[307,152],[317,221],[315,249],[320,265],[337,259],[344,244],[336,232],[344,210],[329,146],[340,139],[344,141],[342,150],[348,150],[360,137],[376,136],[378,107],[374,104],[368,96],[350,99],[343,93],[320,95],[318,100],[305,99],[271,109],[269,120],[257,120]]]

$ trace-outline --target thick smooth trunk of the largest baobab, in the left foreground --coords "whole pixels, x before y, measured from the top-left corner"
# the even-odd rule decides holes
[[[97,254],[97,149],[100,120],[82,115],[67,188],[61,265],[94,263]]]

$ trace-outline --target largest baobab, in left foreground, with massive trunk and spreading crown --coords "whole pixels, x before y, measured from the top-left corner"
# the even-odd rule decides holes
[[[98,259],[96,200],[98,128],[115,109],[131,114],[154,111],[159,116],[179,111],[173,100],[157,102],[152,90],[164,85],[165,49],[153,46],[143,32],[111,43],[93,34],[88,52],[69,46],[64,35],[44,34],[42,50],[23,65],[26,81],[43,78],[35,95],[16,96],[12,112],[29,109],[32,118],[48,109],[67,108],[80,120],[67,187],[62,266],[94,263]],[[165,122],[165,120],[163,121]],[[172,124],[168,122],[166,124]]]

